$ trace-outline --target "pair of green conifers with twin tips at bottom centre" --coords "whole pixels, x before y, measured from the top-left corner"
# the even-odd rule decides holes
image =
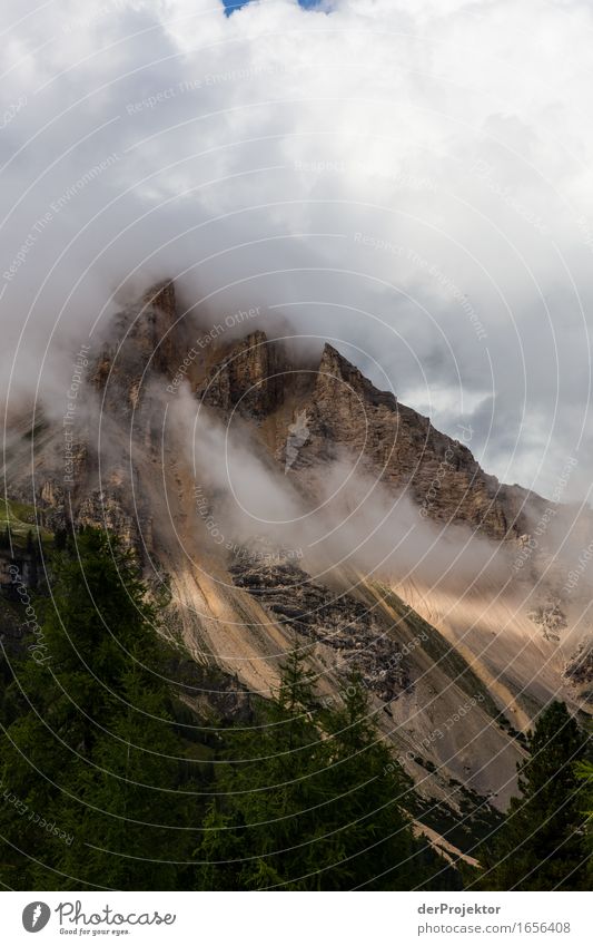
[[[196,851],[199,888],[411,889],[445,868],[413,837],[356,674],[343,698],[320,708],[304,657],[288,656],[258,725],[233,735]]]

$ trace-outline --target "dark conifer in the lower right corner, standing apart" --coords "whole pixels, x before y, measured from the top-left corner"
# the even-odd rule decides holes
[[[586,888],[583,797],[575,763],[586,738],[566,705],[551,703],[527,735],[530,755],[518,770],[513,798],[495,838],[481,849],[485,890]]]

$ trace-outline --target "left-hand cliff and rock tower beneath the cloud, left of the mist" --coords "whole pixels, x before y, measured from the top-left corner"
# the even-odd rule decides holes
[[[14,449],[7,465],[12,496],[34,503],[48,528],[97,525],[139,553],[150,550],[145,486],[158,456],[159,389],[185,357],[187,339],[170,282],[118,313],[63,420],[43,422],[32,451],[24,439]]]

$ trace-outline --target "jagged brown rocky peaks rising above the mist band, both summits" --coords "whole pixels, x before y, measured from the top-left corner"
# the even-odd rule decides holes
[[[105,416],[123,427],[134,419],[146,449],[156,417],[151,382],[170,381],[195,340],[166,280],[115,318],[110,343],[91,367]],[[196,399],[225,422],[239,415],[251,425],[254,448],[267,450],[304,495],[318,498],[328,466],[352,461],[394,497],[406,495],[425,517],[494,539],[530,533],[538,497],[485,474],[470,450],[471,431],[457,439],[438,432],[330,343],[305,365],[260,329],[241,339],[223,334],[192,367]]]

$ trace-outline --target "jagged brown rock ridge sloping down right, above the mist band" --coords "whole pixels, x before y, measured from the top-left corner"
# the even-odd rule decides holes
[[[485,474],[464,442],[471,431],[461,429],[454,440],[435,430],[330,344],[314,368],[300,371],[279,344],[256,332],[225,353],[197,396],[227,418],[234,410],[259,425],[274,418],[275,457],[308,488],[307,470],[319,474],[324,464],[347,458],[394,494],[405,494],[423,516],[465,524],[494,539],[518,538],[527,516],[545,506]],[[291,411],[283,418],[288,403]]]

